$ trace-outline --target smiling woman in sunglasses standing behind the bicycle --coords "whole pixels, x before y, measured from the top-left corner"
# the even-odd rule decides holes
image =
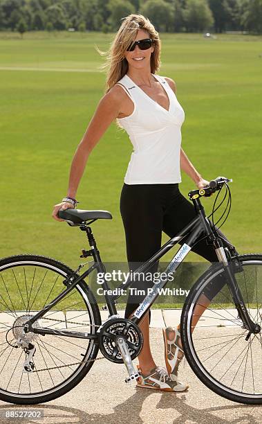
[[[160,68],[160,39],[149,19],[129,15],[115,35],[109,51],[106,94],[79,143],[68,184],[68,197],[55,205],[53,218],[61,221],[59,209],[75,207],[75,196],[91,150],[113,121],[123,127],[133,143],[131,161],[124,178],[120,211],[131,270],[160,249],[161,234],[173,237],[195,216],[191,204],[178,189],[180,167],[198,188],[209,182],[194,168],[180,148],[180,127],[185,115],[176,98],[171,78],[156,75]],[[217,260],[205,240],[192,249],[210,261]],[[153,270],[156,270],[154,267]],[[133,287],[149,286],[148,282]],[[212,298],[211,298],[212,299]],[[209,303],[205,297],[203,301]],[[125,317],[138,307],[140,298],[129,296]],[[203,312],[203,311],[200,311]],[[200,315],[200,314],[199,314]],[[178,365],[183,357],[178,328],[163,330],[167,371],[156,366],[149,346],[149,312],[140,324],[144,344],[139,359],[140,387],[163,391],[184,391],[178,382]]]

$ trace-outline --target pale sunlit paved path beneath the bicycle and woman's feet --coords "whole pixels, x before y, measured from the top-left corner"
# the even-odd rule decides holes
[[[161,327],[176,324],[181,310],[153,310],[151,320],[151,350],[156,363],[164,365],[164,344]],[[102,311],[106,319],[106,311]],[[120,315],[123,316],[123,311]],[[165,321],[164,321],[165,319]],[[174,322],[175,321],[175,322]],[[203,321],[203,325],[205,325]],[[137,360],[134,361],[137,364]],[[225,424],[261,423],[262,407],[233,403],[207,389],[187,363],[180,366],[180,380],[189,382],[182,394],[161,393],[127,385],[124,365],[105,359],[96,362],[86,378],[68,394],[36,405],[44,412],[43,420],[12,421],[3,418],[8,410],[34,409],[8,405],[0,401],[0,423],[101,423],[101,424]]]

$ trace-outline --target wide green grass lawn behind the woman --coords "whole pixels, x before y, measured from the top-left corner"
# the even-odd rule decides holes
[[[66,195],[71,159],[104,93],[104,73],[97,71],[104,58],[94,44],[106,50],[112,37],[28,33],[20,39],[0,33],[0,257],[35,253],[71,267],[79,263],[84,234],[55,222],[51,213]],[[176,81],[185,110],[183,148],[205,179],[234,180],[232,211],[222,230],[238,251],[261,251],[262,37],[161,39],[159,74]],[[89,157],[77,193],[81,209],[113,215],[93,224],[102,259],[110,262],[126,260],[119,199],[130,154],[127,134],[112,124]],[[187,196],[194,184],[182,178]],[[203,200],[207,212],[213,201]]]

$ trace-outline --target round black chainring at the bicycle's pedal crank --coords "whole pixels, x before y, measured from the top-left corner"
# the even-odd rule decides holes
[[[130,319],[112,318],[106,321],[97,332],[100,351],[106,359],[123,364],[122,356],[115,341],[123,337],[129,348],[131,360],[137,357],[142,349],[143,337],[140,328]]]

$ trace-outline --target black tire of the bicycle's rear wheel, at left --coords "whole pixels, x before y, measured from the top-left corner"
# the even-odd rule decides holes
[[[69,274],[73,273],[71,268],[67,267],[63,263],[54,260],[53,258],[48,258],[45,256],[37,256],[37,255],[17,255],[10,256],[8,258],[3,258],[0,260],[0,277],[3,270],[10,270],[13,267],[17,266],[26,266],[26,265],[39,265],[39,267],[44,267],[47,270],[55,270],[57,274],[60,274],[63,279]],[[64,287],[65,288],[65,287]],[[75,290],[75,289],[73,289]],[[88,285],[83,281],[80,281],[76,286],[76,290],[79,293],[79,297],[82,297],[83,303],[86,305],[86,310],[88,312],[88,316],[91,317],[91,324],[95,326],[101,325],[101,317],[100,310],[97,306],[97,301],[93,296]],[[2,302],[3,303],[3,302]],[[96,333],[97,327],[94,325],[91,326],[91,333]],[[68,339],[69,337],[64,337],[64,339]],[[74,339],[75,340],[75,339]],[[79,339],[77,339],[79,340]],[[84,339],[87,340],[87,339]],[[88,350],[83,354],[82,361],[90,360],[91,362],[87,362],[84,364],[79,364],[77,369],[73,372],[70,378],[67,378],[63,383],[53,387],[53,389],[47,391],[39,391],[34,394],[14,394],[10,391],[5,391],[1,388],[0,382],[0,399],[8,402],[8,403],[17,403],[22,405],[33,405],[35,403],[43,403],[58,398],[66,394],[68,391],[73,389],[78,383],[86,376],[88,371],[90,371],[93,366],[93,360],[97,357],[97,353],[99,351],[98,344],[94,342],[94,340],[88,340]],[[0,358],[1,361],[1,358]],[[29,377],[28,377],[29,379]]]

